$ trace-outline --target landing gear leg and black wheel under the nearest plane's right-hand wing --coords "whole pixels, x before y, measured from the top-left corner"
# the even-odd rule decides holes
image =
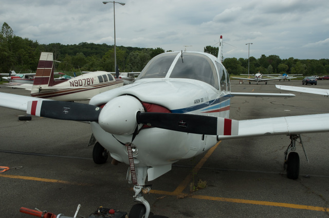
[[[290,135],[290,144],[284,152],[284,170],[287,171],[288,179],[297,180],[299,176],[299,155],[296,151],[296,140],[299,138],[299,144],[302,145],[303,151],[308,162],[308,158],[304,149],[302,138],[300,135]]]

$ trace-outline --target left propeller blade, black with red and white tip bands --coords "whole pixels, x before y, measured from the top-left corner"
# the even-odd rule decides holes
[[[75,102],[38,100],[28,102],[27,113],[58,120],[98,121],[100,107]]]

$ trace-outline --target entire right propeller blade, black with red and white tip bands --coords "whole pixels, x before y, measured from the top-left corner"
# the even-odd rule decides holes
[[[223,117],[185,113],[140,112],[137,123],[162,129],[205,135],[237,135],[239,122]]]

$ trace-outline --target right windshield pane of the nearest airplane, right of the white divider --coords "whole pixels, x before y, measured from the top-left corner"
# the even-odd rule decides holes
[[[213,62],[206,55],[199,53],[182,53],[170,78],[191,78],[208,83],[217,90],[220,89]]]

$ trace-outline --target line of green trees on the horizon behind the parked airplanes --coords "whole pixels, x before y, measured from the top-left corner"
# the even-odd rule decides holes
[[[217,56],[218,48],[206,46],[204,51]],[[56,71],[80,72],[103,70],[114,72],[114,46],[106,44],[79,43],[62,45],[60,43],[40,44],[29,38],[13,33],[4,23],[0,31],[0,72],[10,70],[27,73],[35,72],[41,52],[52,52],[56,62]],[[162,48],[116,47],[117,65],[120,72],[138,72],[154,56],[165,52]],[[248,58],[224,58],[224,66],[230,74],[248,73]],[[261,55],[249,58],[250,73],[263,74],[329,74],[329,60],[298,60],[293,57],[281,59],[278,55]]]

